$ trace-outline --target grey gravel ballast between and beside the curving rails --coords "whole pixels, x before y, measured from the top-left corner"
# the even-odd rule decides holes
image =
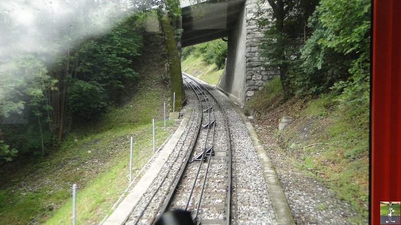
[[[209,89],[209,88],[208,88]],[[219,101],[222,109],[225,111],[230,131],[231,151],[232,151],[232,184],[231,184],[231,222],[233,224],[278,224],[272,197],[269,193],[268,185],[265,182],[262,166],[259,162],[254,143],[248,134],[248,129],[235,107],[216,90],[210,90]],[[178,141],[174,151],[169,156],[165,165],[159,172],[159,175],[152,181],[149,189],[142,196],[141,200],[133,209],[131,215],[125,224],[148,224],[158,217],[160,208],[165,201],[166,195],[171,192],[172,183],[176,180],[176,174],[182,166],[182,162],[187,156],[189,146],[191,145],[195,134],[196,121],[199,119],[198,103],[192,91],[186,90],[187,106],[193,107],[194,112],[190,118],[184,134]],[[216,110],[216,118],[223,117],[223,114]],[[219,138],[224,140],[224,130],[221,122],[216,122],[216,154],[211,159],[210,172],[208,173],[208,181],[205,186],[205,193],[202,199],[199,217],[203,223],[220,224],[225,219],[225,196],[226,187],[224,183],[227,181],[227,173],[223,172],[227,169],[227,146],[224,141],[218,141]],[[205,124],[203,124],[205,125]],[[202,132],[201,132],[202,133]],[[202,134],[201,134],[202,135]],[[199,144],[197,144],[199,145]],[[198,163],[189,166],[189,170],[194,170]],[[202,165],[202,169],[207,163]],[[190,174],[190,173],[188,173]],[[209,175],[210,174],[210,175]],[[192,175],[188,175],[189,178]],[[203,179],[203,175],[199,175],[199,179]],[[189,186],[182,186],[177,193],[189,193]],[[193,192],[190,207],[196,205],[197,189]],[[184,195],[185,196],[185,195]],[[184,197],[177,197],[173,208],[180,208],[185,205]]]

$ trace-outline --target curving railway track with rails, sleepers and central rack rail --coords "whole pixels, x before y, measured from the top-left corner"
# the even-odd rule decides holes
[[[163,212],[172,209],[190,211],[195,223],[231,223],[231,142],[227,117],[208,89],[186,76],[184,82],[192,99],[196,99],[196,113],[126,224],[153,224]]]

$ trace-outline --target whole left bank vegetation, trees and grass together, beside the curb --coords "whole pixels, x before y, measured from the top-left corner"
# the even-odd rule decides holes
[[[135,7],[156,4],[169,9],[170,18],[180,16],[176,0],[150,2]],[[78,12],[63,19],[80,25],[91,22],[84,16],[85,4],[93,4],[94,11],[107,4],[75,3],[61,3],[73,4]],[[128,185],[129,136],[134,137],[135,174],[154,154],[151,119],[156,121],[157,146],[170,135],[174,121],[165,130],[160,122],[162,102],[170,105],[171,97],[164,34],[144,31],[146,12],[124,12],[127,17],[119,19],[120,11],[130,9],[119,1],[110,4],[116,5],[107,13],[116,15],[108,17],[113,26],[102,34],[91,26],[53,30],[49,25],[47,35],[60,37],[56,42],[61,47],[54,50],[59,57],[15,55],[2,61],[0,224],[49,218],[49,224],[71,223],[73,183],[78,184],[77,222],[98,223]],[[13,31],[18,23],[5,12],[0,17]]]

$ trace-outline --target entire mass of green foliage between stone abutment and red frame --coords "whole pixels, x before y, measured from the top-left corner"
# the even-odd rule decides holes
[[[370,1],[265,1],[272,8],[258,14],[266,36],[260,47],[269,66],[280,69],[284,90],[311,96],[333,89],[340,101],[366,107]]]

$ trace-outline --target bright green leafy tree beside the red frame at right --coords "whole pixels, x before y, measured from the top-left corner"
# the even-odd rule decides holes
[[[343,103],[369,105],[371,2],[321,0],[310,18],[314,29],[302,49],[307,76],[321,74],[320,85],[342,92]]]

